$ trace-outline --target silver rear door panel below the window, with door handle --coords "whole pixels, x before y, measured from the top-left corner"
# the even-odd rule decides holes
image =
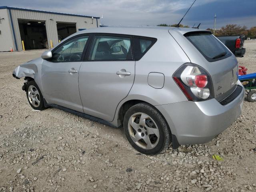
[[[130,75],[116,74],[123,71]],[[84,113],[112,121],[118,103],[126,98],[135,77],[135,61],[87,61],[79,70]]]

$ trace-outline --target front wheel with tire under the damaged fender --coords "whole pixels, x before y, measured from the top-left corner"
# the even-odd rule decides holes
[[[45,109],[43,95],[34,80],[27,83],[26,95],[28,103],[33,109],[40,111]]]

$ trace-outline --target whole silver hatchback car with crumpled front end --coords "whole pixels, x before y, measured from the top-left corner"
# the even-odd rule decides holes
[[[124,127],[144,154],[209,142],[241,113],[236,57],[210,31],[104,27],[77,32],[15,68],[32,108]]]

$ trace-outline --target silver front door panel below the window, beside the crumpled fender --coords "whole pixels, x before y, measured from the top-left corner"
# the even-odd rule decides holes
[[[57,104],[78,112],[84,112],[78,88],[78,73],[82,62],[42,63],[43,96],[47,102]]]

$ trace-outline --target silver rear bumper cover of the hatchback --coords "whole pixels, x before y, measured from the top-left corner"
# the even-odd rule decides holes
[[[211,99],[155,107],[166,118],[179,144],[202,144],[223,132],[239,117],[244,102],[244,92],[242,87],[242,92],[224,106],[216,99]]]

